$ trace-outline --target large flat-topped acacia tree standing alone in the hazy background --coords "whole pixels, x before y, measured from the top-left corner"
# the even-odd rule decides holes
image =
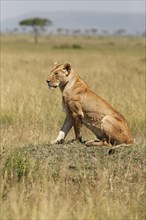
[[[38,43],[38,36],[45,30],[46,26],[52,25],[52,21],[46,18],[30,18],[19,22],[21,26],[32,27],[34,33],[34,42]]]

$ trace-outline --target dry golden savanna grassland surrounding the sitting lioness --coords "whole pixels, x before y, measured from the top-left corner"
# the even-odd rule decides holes
[[[46,83],[55,61],[125,116],[132,147],[108,155],[70,143],[73,131],[49,145],[65,118]],[[1,37],[0,219],[145,219],[145,62],[142,37]]]

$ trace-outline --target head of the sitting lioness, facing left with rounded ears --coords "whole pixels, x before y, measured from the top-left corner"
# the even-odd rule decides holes
[[[55,65],[46,80],[49,88],[65,86],[68,82],[68,76],[70,74],[70,71],[71,65],[69,63]]]

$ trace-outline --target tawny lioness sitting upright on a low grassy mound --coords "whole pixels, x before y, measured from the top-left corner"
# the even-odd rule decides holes
[[[69,63],[55,65],[47,79],[50,88],[59,87],[62,106],[67,116],[53,144],[62,143],[74,127],[75,140],[82,142],[82,124],[90,129],[97,140],[87,146],[133,144],[133,137],[125,118],[110,104],[96,95],[77,75]]]

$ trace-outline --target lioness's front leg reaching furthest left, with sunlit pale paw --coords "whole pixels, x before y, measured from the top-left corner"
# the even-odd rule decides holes
[[[72,126],[73,126],[72,118],[69,115],[67,115],[66,118],[65,118],[64,124],[63,124],[61,130],[59,131],[59,134],[58,134],[57,138],[54,141],[52,141],[51,144],[61,144],[61,143],[63,143],[65,137],[69,133]]]

